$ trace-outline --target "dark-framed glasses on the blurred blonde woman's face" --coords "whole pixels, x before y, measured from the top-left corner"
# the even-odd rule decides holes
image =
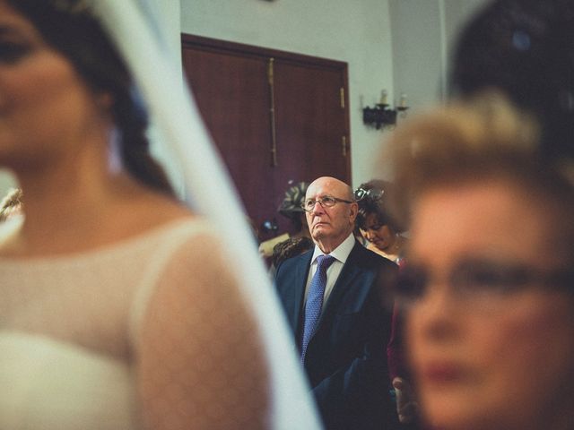
[[[427,294],[432,281],[436,280],[429,271],[407,262],[396,280],[396,299],[403,305],[413,305]],[[497,298],[536,286],[574,291],[574,271],[541,271],[519,263],[468,260],[459,262],[445,282],[461,301],[495,304]]]

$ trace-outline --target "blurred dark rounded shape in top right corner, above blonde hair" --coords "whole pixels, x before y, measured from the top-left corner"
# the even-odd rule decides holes
[[[465,25],[450,89],[495,88],[541,125],[541,155],[574,157],[574,2],[496,0]]]

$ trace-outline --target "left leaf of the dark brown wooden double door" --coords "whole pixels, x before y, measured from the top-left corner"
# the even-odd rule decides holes
[[[184,49],[188,82],[213,141],[230,170],[241,200],[253,219],[266,215],[272,202],[253,204],[267,197],[265,184],[272,176],[269,160],[269,86],[265,61],[259,57]],[[265,157],[264,156],[264,157]]]

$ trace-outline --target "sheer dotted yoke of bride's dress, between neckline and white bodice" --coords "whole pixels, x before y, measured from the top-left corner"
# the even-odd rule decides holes
[[[24,331],[130,360],[135,297],[201,221],[175,222],[119,245],[55,258],[0,258],[0,330]],[[141,297],[140,299],[144,299]]]

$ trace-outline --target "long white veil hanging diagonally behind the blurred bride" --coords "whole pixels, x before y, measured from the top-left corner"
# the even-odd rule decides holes
[[[232,256],[230,269],[236,273],[240,294],[247,297],[264,337],[271,372],[272,428],[320,428],[291,333],[257,255],[238,194],[213,150],[189,91],[181,86],[180,67],[170,56],[153,4],[146,0],[91,0],[91,6],[125,57],[153,123],[178,159],[187,202],[193,201],[194,209],[210,219],[226,239]]]

